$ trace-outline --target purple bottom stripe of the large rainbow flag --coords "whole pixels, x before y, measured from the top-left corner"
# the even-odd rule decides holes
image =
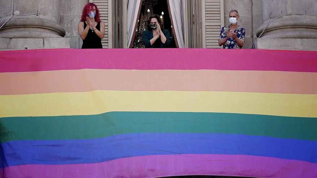
[[[228,175],[250,177],[317,177],[317,164],[261,156],[158,155],[76,165],[22,165],[5,168],[7,178],[131,177]]]

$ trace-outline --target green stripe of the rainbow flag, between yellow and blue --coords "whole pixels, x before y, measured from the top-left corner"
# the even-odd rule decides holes
[[[128,133],[228,133],[317,140],[317,118],[200,112],[107,112],[0,118],[1,142],[108,137]]]

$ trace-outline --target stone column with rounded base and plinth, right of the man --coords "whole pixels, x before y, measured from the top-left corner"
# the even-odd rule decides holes
[[[263,21],[258,48],[317,50],[316,0],[262,1]],[[272,18],[272,19],[270,19]]]

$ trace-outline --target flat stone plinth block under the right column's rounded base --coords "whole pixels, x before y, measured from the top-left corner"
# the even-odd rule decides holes
[[[299,38],[259,38],[258,49],[317,51],[317,39]]]

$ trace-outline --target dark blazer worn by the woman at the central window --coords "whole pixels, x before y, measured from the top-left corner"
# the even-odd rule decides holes
[[[160,44],[160,48],[168,48],[170,46],[171,40],[170,40],[170,32],[168,30],[163,29],[162,30],[163,34],[166,37],[166,41],[165,44],[162,43],[161,39],[157,39],[155,42],[157,42],[159,40]],[[146,48],[154,48],[154,44],[153,43],[151,45],[150,40],[153,38],[153,31],[152,30],[146,30],[143,32],[142,35],[142,40],[143,40],[143,44]]]

